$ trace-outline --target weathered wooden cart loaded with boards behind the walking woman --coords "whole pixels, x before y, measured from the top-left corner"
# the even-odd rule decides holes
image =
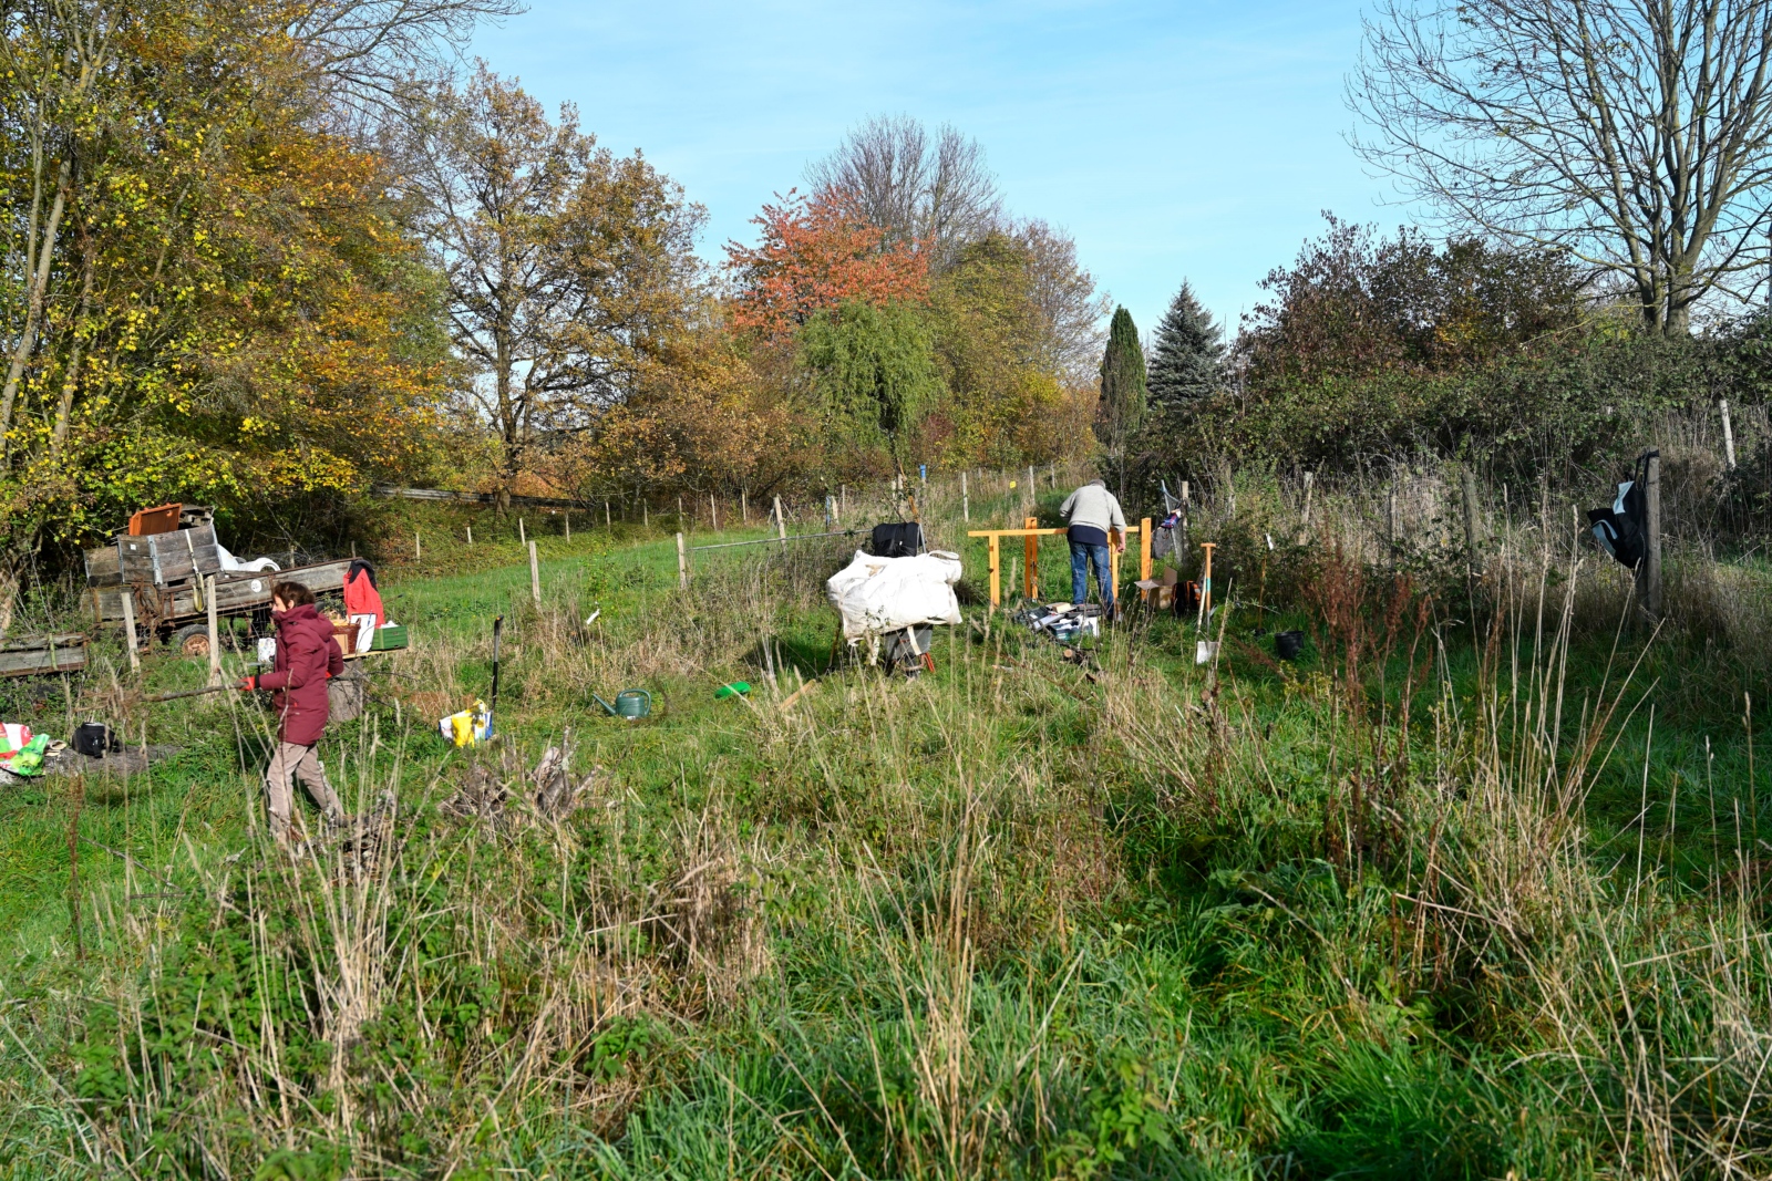
[[[315,595],[337,593],[349,568],[349,560],[338,560],[264,574],[222,570],[214,524],[198,521],[167,533],[122,533],[110,545],[89,549],[87,593],[101,627],[131,621],[138,643],[156,637],[184,655],[207,657],[207,586],[214,588],[218,618],[245,618],[252,636],[268,636],[271,586],[301,583]]]

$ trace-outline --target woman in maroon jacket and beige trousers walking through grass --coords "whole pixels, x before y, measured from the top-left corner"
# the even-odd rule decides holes
[[[276,664],[269,673],[243,678],[239,687],[271,691],[278,742],[264,772],[264,791],[271,836],[287,843],[294,779],[307,786],[326,820],[344,820],[338,793],[326,783],[326,767],[314,753],[326,731],[326,682],[344,671],[344,653],[333,639],[331,620],[314,607],[314,591],[299,583],[271,588],[271,620],[276,623]]]

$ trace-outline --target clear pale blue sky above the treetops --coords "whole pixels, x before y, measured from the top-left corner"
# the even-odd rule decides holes
[[[1411,220],[1347,147],[1356,0],[893,5],[532,0],[473,53],[709,211],[702,253],[874,113],[976,136],[1148,331],[1182,278],[1223,320],[1322,227]]]

